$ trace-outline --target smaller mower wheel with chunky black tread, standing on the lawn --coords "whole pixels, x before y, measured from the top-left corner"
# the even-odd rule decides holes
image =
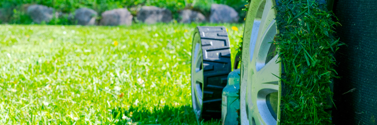
[[[192,106],[199,122],[221,117],[221,93],[231,72],[225,27],[196,27],[191,57]]]

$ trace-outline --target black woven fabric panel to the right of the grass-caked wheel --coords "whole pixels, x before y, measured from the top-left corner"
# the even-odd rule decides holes
[[[377,125],[377,0],[339,0],[334,13],[346,45],[336,56],[333,123]]]

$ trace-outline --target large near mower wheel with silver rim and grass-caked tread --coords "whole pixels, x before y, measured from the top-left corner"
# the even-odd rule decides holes
[[[308,124],[329,122],[331,116],[324,109],[332,105],[329,79],[334,77],[331,74],[334,58],[331,53],[334,52],[333,48],[336,48],[338,41],[331,35],[334,33],[331,26],[335,23],[329,19],[330,14],[322,8],[323,2],[323,0],[249,2],[242,45],[240,87],[242,125],[277,125],[282,122],[281,115],[291,120],[284,119],[284,122],[290,123],[298,123],[298,120],[302,119]],[[329,25],[329,23],[333,24]],[[325,28],[318,28],[317,25]],[[276,50],[279,50],[279,53]],[[300,72],[296,71],[297,66],[300,66],[298,67],[300,69],[297,69]],[[295,79],[291,78],[292,76],[298,77]],[[289,83],[282,83],[280,78]],[[306,88],[311,90],[300,84],[305,84]],[[316,91],[312,91],[313,88]],[[302,96],[297,96],[299,94],[291,96],[292,92]],[[309,99],[311,101],[307,102]],[[330,102],[324,101],[326,99],[330,99]],[[280,110],[282,105],[285,107]],[[305,109],[302,105],[305,105]],[[287,111],[285,109],[293,113],[282,112]],[[292,109],[305,111],[294,113]],[[319,116],[316,113],[321,117],[316,117]],[[302,114],[302,116],[296,119],[291,117],[293,114],[296,116]],[[310,121],[306,122],[305,119]]]

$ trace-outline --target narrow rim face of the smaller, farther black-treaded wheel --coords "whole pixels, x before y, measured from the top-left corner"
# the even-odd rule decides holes
[[[194,35],[192,50],[191,60],[194,60],[191,63],[192,106],[196,119],[199,119],[203,105],[203,54],[199,33],[195,33]]]

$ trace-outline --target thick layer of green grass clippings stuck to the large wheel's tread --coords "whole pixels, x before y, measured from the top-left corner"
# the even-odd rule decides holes
[[[280,119],[282,125],[330,125],[330,84],[336,77],[333,13],[310,0],[280,0],[276,7],[277,46],[284,65]]]

